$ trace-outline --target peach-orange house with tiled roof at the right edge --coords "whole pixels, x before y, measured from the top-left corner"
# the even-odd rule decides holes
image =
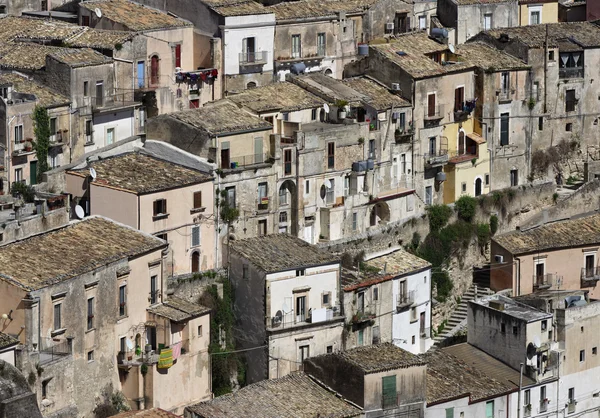
[[[492,238],[491,287],[526,295],[585,289],[598,297],[600,215],[519,229]]]

